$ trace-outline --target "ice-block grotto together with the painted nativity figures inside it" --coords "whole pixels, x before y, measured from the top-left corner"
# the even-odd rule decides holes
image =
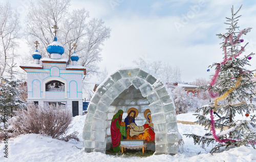
[[[156,74],[142,67],[118,69],[98,86],[83,140],[86,152],[177,154],[183,147],[172,96]]]

